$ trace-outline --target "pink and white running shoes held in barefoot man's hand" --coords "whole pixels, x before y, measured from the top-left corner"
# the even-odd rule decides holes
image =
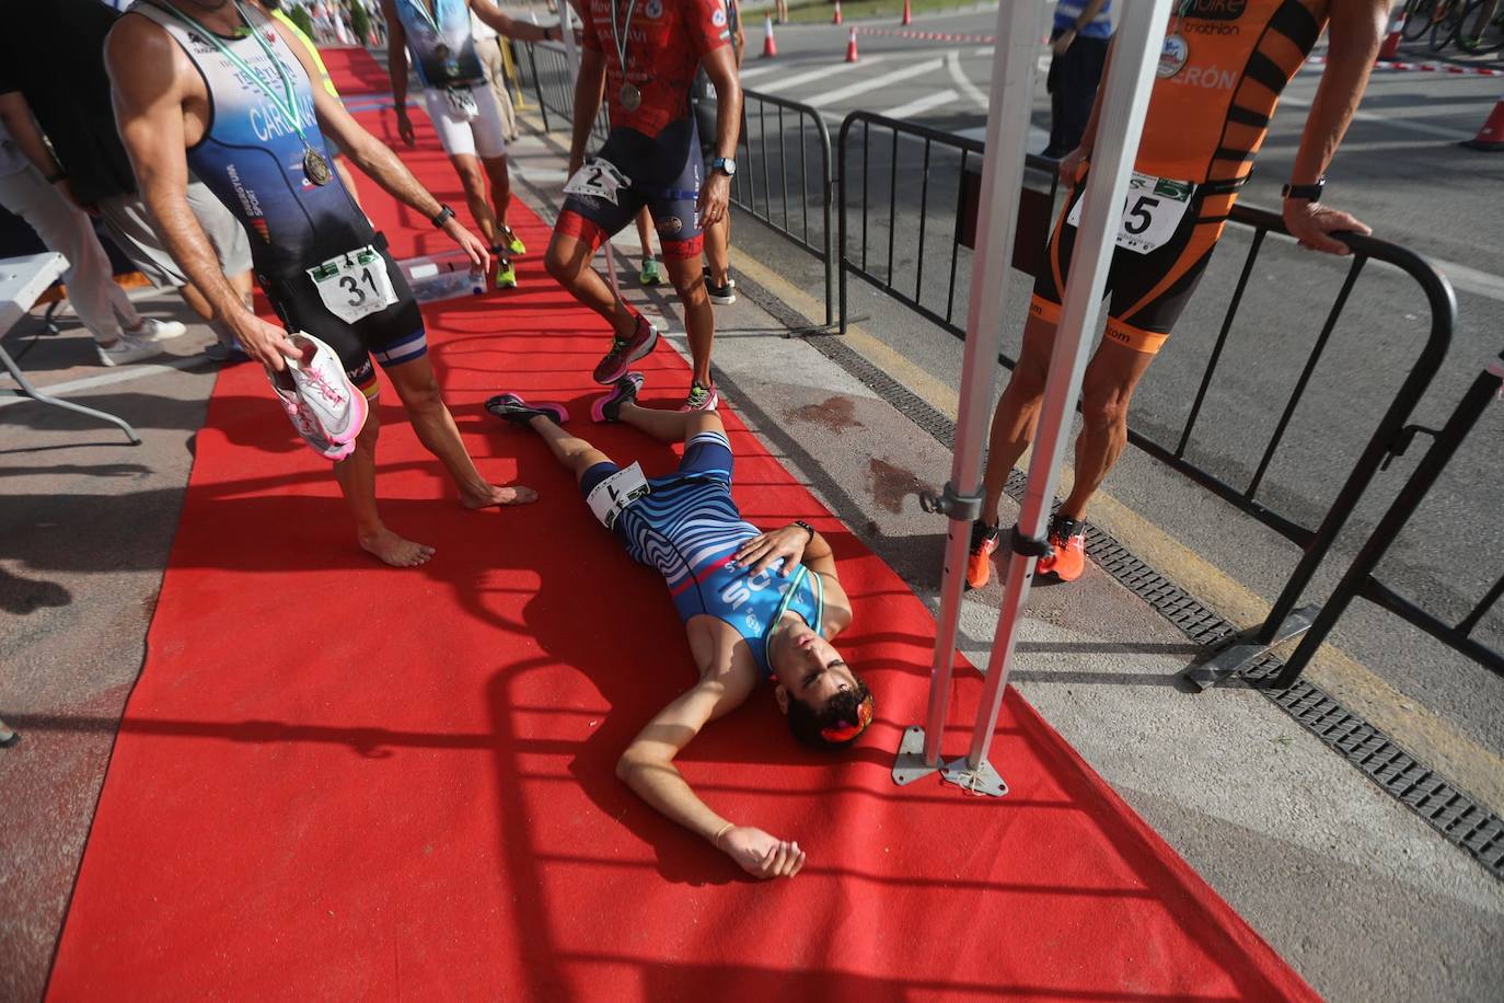
[[[328,344],[301,331],[287,335],[302,355],[281,371],[266,370],[298,435],[320,456],[341,460],[355,450],[368,405]]]

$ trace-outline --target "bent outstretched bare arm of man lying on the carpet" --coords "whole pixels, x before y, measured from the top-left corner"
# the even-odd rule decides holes
[[[757,686],[750,654],[734,660],[728,650],[717,659],[726,669],[705,672],[693,689],[660,710],[621,753],[617,776],[654,811],[713,844],[747,874],[791,878],[805,866],[799,844],[726,821],[699,800],[674,765],[674,756],[701,728],[740,707]]]

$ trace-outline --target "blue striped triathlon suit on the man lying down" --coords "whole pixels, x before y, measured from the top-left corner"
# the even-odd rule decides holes
[[[720,432],[701,432],[684,445],[678,471],[648,478],[651,492],[617,517],[612,532],[639,564],[657,568],[684,623],[710,615],[746,639],[763,678],[773,675],[767,660],[767,632],[790,586],[799,591],[788,609],[820,629],[821,609],[815,574],[779,574],[782,561],[752,574],[731,567],[737,549],[761,532],[741,519],[731,499],[731,444]],[[620,471],[597,463],[585,471],[585,495]]]

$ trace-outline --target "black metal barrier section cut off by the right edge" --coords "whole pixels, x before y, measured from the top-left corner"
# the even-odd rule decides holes
[[[1390,588],[1378,577],[1373,571],[1379,561],[1388,552],[1390,546],[1394,543],[1396,537],[1405,529],[1411,516],[1426,499],[1436,478],[1441,477],[1442,471],[1447,469],[1447,463],[1456,454],[1457,448],[1472,432],[1478,418],[1487,406],[1499,398],[1501,385],[1504,385],[1504,352],[1493,359],[1477,379],[1472,380],[1472,386],[1463,394],[1462,402],[1457,405],[1456,411],[1447,420],[1447,424],[1439,430],[1433,432],[1430,429],[1421,429],[1418,426],[1411,426],[1406,429],[1411,435],[1414,432],[1424,432],[1433,435],[1436,439],[1430,450],[1426,451],[1424,459],[1411,474],[1409,480],[1405,481],[1405,487],[1394,498],[1390,510],[1379,520],[1379,525],[1373,528],[1369,538],[1364,541],[1363,547],[1358,549],[1358,556],[1354,558],[1352,565],[1348,573],[1343,574],[1342,582],[1337,585],[1337,591],[1331,594],[1331,598],[1322,606],[1321,614],[1316,617],[1316,623],[1311,624],[1310,632],[1301,639],[1298,648],[1284,663],[1280,675],[1274,680],[1274,686],[1283,689],[1295,683],[1301,672],[1310,663],[1311,656],[1316,654],[1316,648],[1321,647],[1331,629],[1342,620],[1342,615],[1348,611],[1355,595],[1361,595],[1375,606],[1387,609],[1388,612],[1400,617],[1409,624],[1420,627],[1432,638],[1448,645],[1454,651],[1472,659],[1483,668],[1504,675],[1504,651],[1498,648],[1490,648],[1474,636],[1478,624],[1483,623],[1483,617],[1498,605],[1499,597],[1504,595],[1504,574],[1489,588],[1483,598],[1480,598],[1472,609],[1457,623],[1448,623],[1441,617],[1427,612],[1414,600],[1400,595],[1396,589]]]

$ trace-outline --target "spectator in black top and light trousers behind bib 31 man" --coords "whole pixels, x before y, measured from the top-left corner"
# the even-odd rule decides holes
[[[176,289],[218,337],[209,356],[245,358],[214,307],[162,245],[120,146],[104,69],[104,38],[120,15],[99,0],[0,0],[0,120],[42,177],[81,209],[98,211],[110,236],[158,287]],[[45,42],[45,44],[44,44]],[[45,132],[45,141],[44,134]],[[51,149],[48,149],[51,143]],[[251,245],[229,211],[197,180],[188,205],[241,299],[251,302]]]

